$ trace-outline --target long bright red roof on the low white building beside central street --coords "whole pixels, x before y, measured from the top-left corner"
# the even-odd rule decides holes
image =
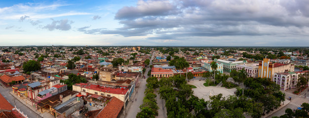
[[[75,86],[81,87],[81,88],[87,88],[87,89],[92,89],[92,90],[97,90],[97,91],[104,91],[104,92],[108,92],[108,93],[114,93],[114,94],[125,94],[128,91],[127,89],[120,89],[120,88],[110,88],[110,87],[102,87],[102,86],[98,86],[98,85],[92,85],[92,84],[88,84],[88,83],[80,83],[80,84],[75,84]]]

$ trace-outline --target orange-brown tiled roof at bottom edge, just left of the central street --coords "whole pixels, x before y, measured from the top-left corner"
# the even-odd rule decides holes
[[[110,102],[103,108],[96,118],[117,118],[123,107],[123,103],[116,97],[113,97]]]

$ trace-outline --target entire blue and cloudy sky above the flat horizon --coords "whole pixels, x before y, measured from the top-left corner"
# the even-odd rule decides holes
[[[309,0],[0,0],[0,46],[309,46]]]

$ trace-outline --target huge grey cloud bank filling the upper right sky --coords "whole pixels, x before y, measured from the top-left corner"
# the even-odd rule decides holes
[[[115,15],[123,27],[90,34],[181,37],[308,35],[308,0],[139,0]]]

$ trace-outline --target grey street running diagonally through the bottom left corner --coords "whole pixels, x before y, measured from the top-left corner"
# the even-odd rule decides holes
[[[14,107],[14,96],[12,96],[9,91],[11,91],[12,88],[3,88],[0,87],[0,93],[2,96]],[[21,103],[18,99],[15,100],[16,108],[20,109],[24,114],[28,116],[28,118],[42,118],[40,117],[36,112],[32,111],[30,108],[25,106],[23,103]]]

